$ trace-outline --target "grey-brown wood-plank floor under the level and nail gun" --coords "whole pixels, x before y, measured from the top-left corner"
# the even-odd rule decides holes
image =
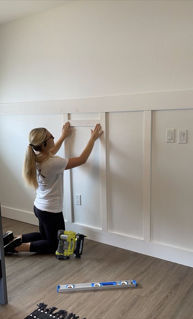
[[[15,235],[38,227],[2,218],[3,231]],[[44,302],[80,318],[193,318],[193,268],[85,240],[81,259],[73,255],[19,253],[5,256],[8,304],[1,319],[22,319]],[[135,279],[128,289],[57,293],[57,285]]]

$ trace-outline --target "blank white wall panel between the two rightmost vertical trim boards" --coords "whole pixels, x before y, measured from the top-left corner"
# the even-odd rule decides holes
[[[109,231],[143,238],[144,112],[109,113],[107,118]]]

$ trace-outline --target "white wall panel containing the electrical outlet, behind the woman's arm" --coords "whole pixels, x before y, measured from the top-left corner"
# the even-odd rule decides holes
[[[71,114],[69,120],[97,119],[97,113]],[[70,156],[80,156],[90,138],[90,127],[73,127]],[[92,128],[93,129],[93,128]],[[72,169],[73,221],[101,229],[100,142],[96,141],[87,164]],[[81,205],[75,204],[75,194],[81,195]]]

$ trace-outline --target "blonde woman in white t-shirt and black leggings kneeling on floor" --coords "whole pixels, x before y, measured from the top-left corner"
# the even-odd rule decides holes
[[[100,124],[91,130],[89,142],[79,157],[65,159],[54,156],[71,132],[69,122],[62,128],[61,137],[54,144],[53,135],[45,128],[29,133],[23,176],[36,189],[34,214],[39,220],[39,233],[13,236],[12,231],[4,237],[4,253],[12,255],[19,251],[53,254],[58,248],[58,230],[65,230],[63,217],[63,173],[64,170],[85,164],[95,141],[103,132]]]

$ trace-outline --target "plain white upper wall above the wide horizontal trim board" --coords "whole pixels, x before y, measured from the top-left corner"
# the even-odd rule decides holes
[[[192,1],[78,0],[0,27],[0,103],[191,90]]]

